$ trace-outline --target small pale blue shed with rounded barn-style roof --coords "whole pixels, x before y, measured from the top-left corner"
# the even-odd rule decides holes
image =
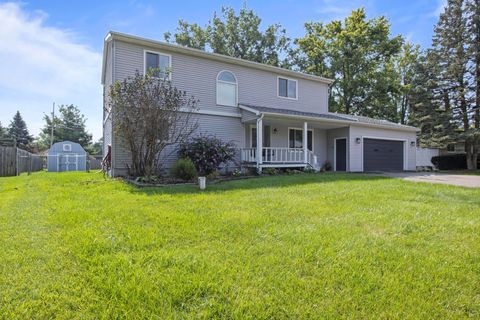
[[[49,172],[87,170],[87,152],[78,143],[72,141],[54,143],[47,156]]]

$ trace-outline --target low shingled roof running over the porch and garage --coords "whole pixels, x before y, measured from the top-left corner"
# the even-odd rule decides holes
[[[240,103],[239,108],[245,111],[256,113],[257,115],[270,114],[270,115],[279,115],[279,116],[292,116],[292,118],[313,118],[318,120],[344,123],[346,125],[357,124],[357,125],[365,125],[365,126],[391,128],[391,129],[397,129],[397,130],[399,129],[399,130],[406,130],[406,131],[420,131],[416,127],[407,126],[407,125],[403,125],[403,124],[399,124],[399,123],[395,123],[387,120],[374,119],[374,118],[363,117],[363,116],[354,116],[349,114],[332,113],[332,112],[328,112],[328,113],[304,112],[304,111],[297,111],[297,110],[291,110],[291,109],[255,106],[255,105],[245,104],[245,103]]]

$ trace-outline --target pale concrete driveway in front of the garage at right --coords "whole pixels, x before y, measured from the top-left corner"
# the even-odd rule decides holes
[[[384,176],[414,182],[449,184],[452,186],[480,188],[480,176],[437,172],[385,172]]]

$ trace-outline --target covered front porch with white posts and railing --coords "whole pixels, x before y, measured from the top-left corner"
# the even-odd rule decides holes
[[[323,119],[296,115],[254,114],[243,110],[245,146],[240,149],[242,166],[257,168],[310,168],[320,170],[325,162],[339,171],[347,170],[349,127]],[[336,168],[336,139],[343,137],[340,150],[343,166]]]

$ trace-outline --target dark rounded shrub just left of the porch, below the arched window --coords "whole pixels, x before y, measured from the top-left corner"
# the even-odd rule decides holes
[[[235,144],[223,142],[214,136],[199,136],[180,144],[178,155],[192,159],[201,175],[208,175],[220,168],[222,163],[235,159]]]

